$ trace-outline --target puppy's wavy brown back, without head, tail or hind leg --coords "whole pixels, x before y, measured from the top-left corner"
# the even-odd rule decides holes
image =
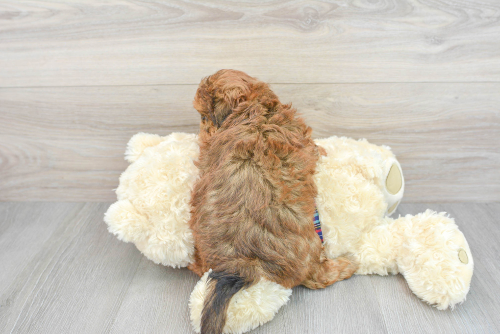
[[[289,106],[265,115],[256,108],[228,119],[200,158],[196,248],[204,270],[298,285],[319,241],[311,228],[317,148]]]

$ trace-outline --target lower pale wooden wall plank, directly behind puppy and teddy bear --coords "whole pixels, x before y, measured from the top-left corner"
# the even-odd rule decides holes
[[[500,83],[276,84],[315,137],[392,147],[404,200],[500,201]],[[196,132],[196,85],[0,89],[0,200],[112,201],[137,132]]]

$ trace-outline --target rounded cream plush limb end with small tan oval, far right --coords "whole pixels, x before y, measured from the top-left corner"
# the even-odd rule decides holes
[[[463,302],[470,287],[473,260],[453,218],[427,210],[402,219],[396,232],[402,236],[397,266],[410,289],[438,310]],[[396,225],[400,225],[398,220]]]

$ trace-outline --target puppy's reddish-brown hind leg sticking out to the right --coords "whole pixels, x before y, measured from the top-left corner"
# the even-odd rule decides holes
[[[351,277],[358,270],[358,263],[349,255],[339,256],[336,259],[322,257],[314,269],[302,285],[309,289],[323,289],[336,281]]]

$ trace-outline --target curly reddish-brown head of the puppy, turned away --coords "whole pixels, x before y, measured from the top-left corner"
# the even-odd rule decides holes
[[[212,135],[242,102],[263,95],[276,98],[265,83],[241,71],[222,69],[207,76],[199,84],[193,102],[202,117],[200,134]]]

